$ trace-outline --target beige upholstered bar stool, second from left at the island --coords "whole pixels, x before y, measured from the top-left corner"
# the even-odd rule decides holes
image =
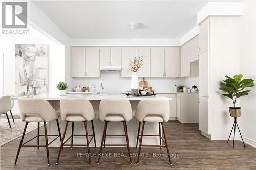
[[[93,119],[95,119],[96,116],[95,116],[92,104],[90,103],[90,101],[88,99],[61,99],[60,100],[60,111],[61,111],[60,115],[61,115],[62,121],[66,121],[67,123],[66,123],[66,127],[65,127],[65,130],[63,133],[63,138],[62,138],[61,145],[59,148],[59,154],[58,154],[56,164],[58,164],[58,162],[59,162],[61,150],[64,146],[71,146],[71,148],[73,148],[73,146],[87,147],[88,155],[89,155],[89,164],[91,164],[89,145],[90,145],[92,139],[94,139],[94,144],[95,144],[95,148],[96,148],[96,139],[95,139],[95,133],[94,133],[94,126],[93,126]],[[87,122],[89,122],[89,121],[91,121],[91,123],[92,123],[93,135],[88,135]],[[72,122],[72,134],[66,141],[64,141],[69,122]],[[84,122],[84,128],[86,130],[85,135],[74,134],[74,122]],[[74,136],[86,136],[87,144],[73,144]],[[92,136],[90,141],[88,139],[88,136]],[[71,144],[65,144],[70,138],[71,138]]]

